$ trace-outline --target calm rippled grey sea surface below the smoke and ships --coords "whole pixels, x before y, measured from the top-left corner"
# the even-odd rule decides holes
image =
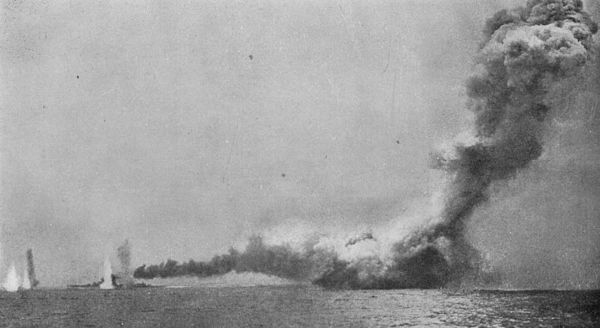
[[[0,292],[1,327],[600,327],[600,291],[312,286]]]

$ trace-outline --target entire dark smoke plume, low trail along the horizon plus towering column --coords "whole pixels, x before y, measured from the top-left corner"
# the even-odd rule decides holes
[[[541,156],[554,110],[548,95],[581,71],[597,30],[580,0],[530,0],[487,21],[475,73],[466,83],[475,117],[470,141],[433,156],[449,178],[441,211],[394,239],[389,254],[349,259],[320,241],[292,250],[255,237],[243,253],[232,250],[208,263],[142,266],[135,276],[258,271],[332,288],[437,288],[494,279],[466,237],[469,218],[488,199],[492,183],[514,177]],[[375,237],[363,234],[342,245],[373,245],[380,240]]]

